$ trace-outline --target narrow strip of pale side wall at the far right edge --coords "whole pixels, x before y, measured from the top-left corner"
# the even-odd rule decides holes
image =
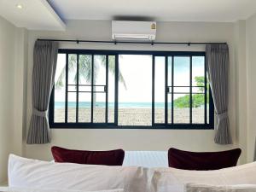
[[[256,137],[256,15],[247,20],[247,160],[253,160]]]

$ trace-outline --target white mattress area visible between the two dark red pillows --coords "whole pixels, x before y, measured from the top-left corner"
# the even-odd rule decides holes
[[[123,166],[168,167],[167,151],[125,151]]]

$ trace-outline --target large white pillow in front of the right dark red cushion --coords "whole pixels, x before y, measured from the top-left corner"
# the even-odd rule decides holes
[[[215,171],[187,171],[174,168],[156,168],[154,171],[152,190],[155,192],[183,192],[185,183],[256,184],[256,162]]]

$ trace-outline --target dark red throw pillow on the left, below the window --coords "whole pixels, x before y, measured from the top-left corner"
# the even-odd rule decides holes
[[[54,146],[51,148],[51,153],[55,162],[59,163],[122,166],[125,158],[125,151],[122,149],[111,151],[82,151]]]

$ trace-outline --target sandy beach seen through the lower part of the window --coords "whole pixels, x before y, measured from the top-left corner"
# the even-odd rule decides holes
[[[55,109],[55,122],[64,122],[64,108]],[[76,108],[68,108],[68,122],[75,122]],[[172,122],[171,111],[169,111],[168,122]],[[94,109],[94,122],[105,122],[105,109]],[[108,109],[108,121],[113,122],[113,109]],[[119,125],[151,125],[151,108],[119,108]],[[164,109],[156,108],[154,121],[164,122]],[[90,122],[90,109],[79,108],[79,122]],[[189,123],[189,108],[174,108],[174,123]],[[204,109],[193,108],[193,123],[204,123]]]

